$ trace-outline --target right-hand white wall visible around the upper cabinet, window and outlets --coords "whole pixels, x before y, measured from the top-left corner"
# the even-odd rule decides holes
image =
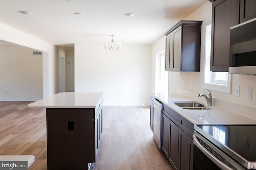
[[[186,18],[181,18],[181,20],[202,20],[203,24],[205,21],[212,19],[212,3],[209,1],[205,2],[197,10],[195,10],[190,16]],[[203,39],[204,37],[202,37]],[[162,44],[165,42],[164,39],[160,38]],[[160,42],[156,42],[160,43]],[[154,43],[152,46],[156,44]],[[203,44],[201,45],[203,47]],[[204,53],[201,50],[201,67],[203,67],[202,57]],[[154,55],[154,54],[153,54]],[[176,89],[184,89],[187,91],[192,91],[194,93],[207,93],[205,89],[202,89],[201,85],[201,74],[202,72],[170,72],[169,79],[172,79],[172,83],[169,82],[169,91],[176,92]],[[184,86],[182,85],[182,80],[184,80]],[[191,87],[190,82],[194,81],[194,87]],[[154,81],[152,82],[154,83]],[[240,97],[235,97],[235,86],[240,86]],[[246,87],[252,87],[252,100],[246,99]],[[256,76],[252,75],[232,75],[231,82],[231,94],[220,93],[212,91],[213,98],[229,101],[239,105],[244,105],[246,107],[251,107],[256,109]]]

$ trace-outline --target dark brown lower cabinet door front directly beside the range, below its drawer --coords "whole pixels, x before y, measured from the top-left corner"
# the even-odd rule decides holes
[[[193,170],[193,140],[180,129],[179,132],[179,167],[180,170]]]

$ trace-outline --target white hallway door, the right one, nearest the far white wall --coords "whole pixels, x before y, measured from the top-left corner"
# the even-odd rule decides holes
[[[74,57],[68,57],[68,92],[75,91],[75,63]]]

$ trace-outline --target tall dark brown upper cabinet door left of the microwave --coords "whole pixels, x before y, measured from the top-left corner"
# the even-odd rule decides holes
[[[230,27],[239,22],[240,0],[212,3],[212,44],[210,71],[228,71]]]

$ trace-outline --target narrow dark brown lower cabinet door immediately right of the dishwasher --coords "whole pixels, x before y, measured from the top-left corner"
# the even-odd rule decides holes
[[[162,114],[162,150],[166,157],[169,156],[169,118]]]

